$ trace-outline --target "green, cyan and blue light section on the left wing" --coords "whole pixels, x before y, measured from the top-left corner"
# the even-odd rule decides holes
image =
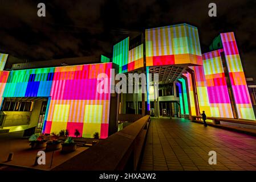
[[[55,68],[11,71],[3,97],[49,97]]]

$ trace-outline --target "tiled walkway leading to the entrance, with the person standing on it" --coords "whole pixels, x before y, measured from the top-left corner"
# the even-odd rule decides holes
[[[209,151],[217,164],[208,163]],[[141,170],[256,170],[256,137],[187,119],[151,118]]]

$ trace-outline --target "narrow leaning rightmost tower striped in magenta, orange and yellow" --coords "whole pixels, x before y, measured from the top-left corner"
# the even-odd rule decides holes
[[[229,32],[221,34],[221,40],[225,52],[227,69],[229,71],[238,117],[255,120],[234,33]]]

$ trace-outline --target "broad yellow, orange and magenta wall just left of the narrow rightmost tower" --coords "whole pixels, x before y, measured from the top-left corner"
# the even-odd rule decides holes
[[[222,51],[223,49],[218,49],[217,51],[202,55],[210,113],[213,117],[233,118],[229,91],[221,60]]]

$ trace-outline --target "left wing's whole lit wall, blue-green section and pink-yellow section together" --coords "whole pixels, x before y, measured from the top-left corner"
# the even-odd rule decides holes
[[[48,97],[43,133],[67,129],[74,137],[78,129],[81,137],[92,138],[98,132],[100,138],[107,138],[110,92],[97,92],[100,82],[97,76],[105,73],[110,90],[111,68],[112,63],[102,63],[1,71],[1,100],[2,97]]]

